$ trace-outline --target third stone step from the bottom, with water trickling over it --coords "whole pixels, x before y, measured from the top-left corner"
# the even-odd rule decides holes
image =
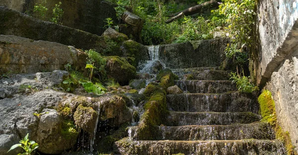
[[[234,123],[253,123],[261,119],[260,115],[250,112],[178,112],[170,111],[166,126],[185,125],[231,125]]]

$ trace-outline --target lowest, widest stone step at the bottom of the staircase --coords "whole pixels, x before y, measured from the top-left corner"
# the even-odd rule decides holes
[[[278,140],[116,142],[121,155],[286,155]]]

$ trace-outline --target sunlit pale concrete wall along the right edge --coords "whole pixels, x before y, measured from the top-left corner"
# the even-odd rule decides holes
[[[278,121],[297,150],[298,0],[259,0],[257,10],[257,84],[272,92]]]

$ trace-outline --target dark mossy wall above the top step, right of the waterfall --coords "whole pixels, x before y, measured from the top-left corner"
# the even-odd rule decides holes
[[[218,67],[225,60],[227,38],[168,44],[159,46],[160,60],[166,67]]]

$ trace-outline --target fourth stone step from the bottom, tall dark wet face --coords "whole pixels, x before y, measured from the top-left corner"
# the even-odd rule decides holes
[[[166,96],[166,100],[168,109],[172,111],[252,113],[259,111],[259,105],[254,95],[239,92],[169,94]]]

